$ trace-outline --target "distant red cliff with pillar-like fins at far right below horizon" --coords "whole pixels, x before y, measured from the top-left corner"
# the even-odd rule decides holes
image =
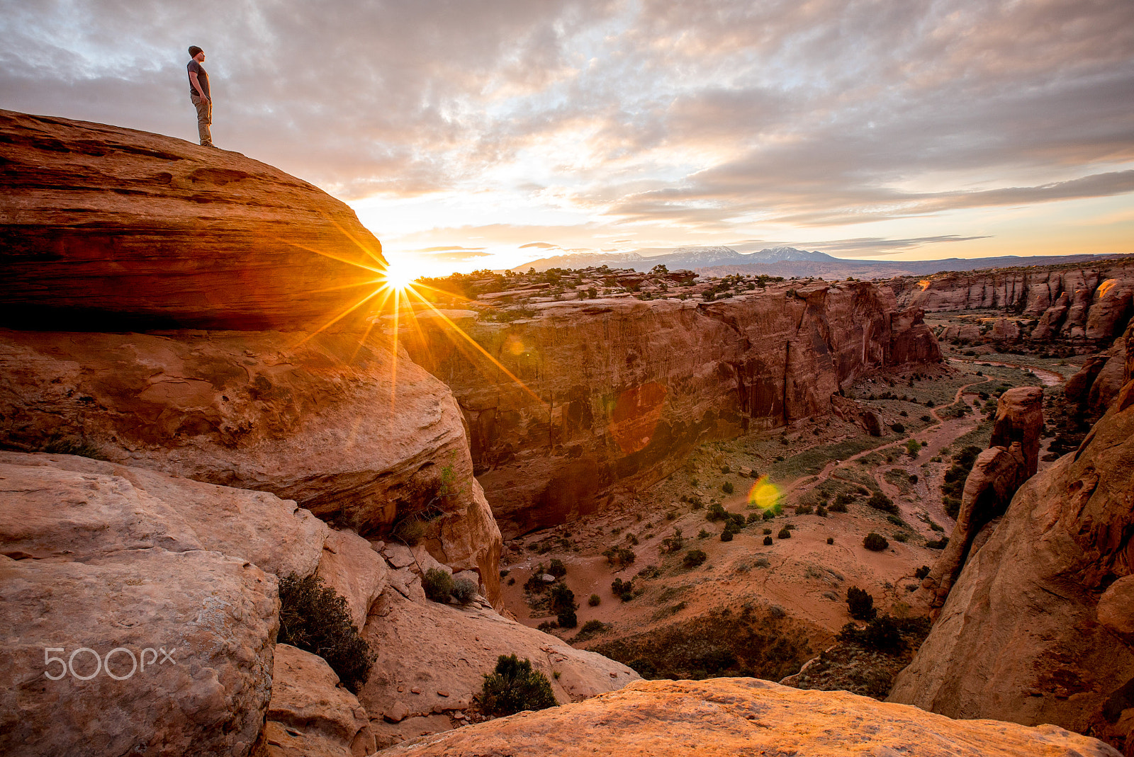
[[[1025,318],[1023,335],[1035,341],[1109,345],[1134,314],[1134,261],[1129,258],[903,277],[886,284],[902,307],[1013,311]]]

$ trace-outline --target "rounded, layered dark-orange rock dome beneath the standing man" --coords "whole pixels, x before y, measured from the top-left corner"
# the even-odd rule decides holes
[[[239,153],[12,111],[0,135],[3,325],[312,330],[386,267],[347,205]]]

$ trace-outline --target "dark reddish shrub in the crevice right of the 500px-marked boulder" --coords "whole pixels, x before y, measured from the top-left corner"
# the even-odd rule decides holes
[[[280,630],[277,641],[290,644],[327,661],[342,681],[357,694],[370,677],[375,655],[358,636],[347,601],[323,586],[315,575],[280,579]]]

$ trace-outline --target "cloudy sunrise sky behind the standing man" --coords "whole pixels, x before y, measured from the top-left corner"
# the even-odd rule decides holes
[[[213,137],[422,271],[1134,252],[1132,0],[0,0],[0,108]]]

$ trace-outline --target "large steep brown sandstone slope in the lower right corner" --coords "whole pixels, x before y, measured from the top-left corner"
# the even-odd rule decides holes
[[[1129,573],[1132,534],[1127,381],[1080,449],[1025,483],[970,555],[890,699],[951,717],[1098,726],[1134,677],[1134,654],[1097,620],[1102,588]]]

